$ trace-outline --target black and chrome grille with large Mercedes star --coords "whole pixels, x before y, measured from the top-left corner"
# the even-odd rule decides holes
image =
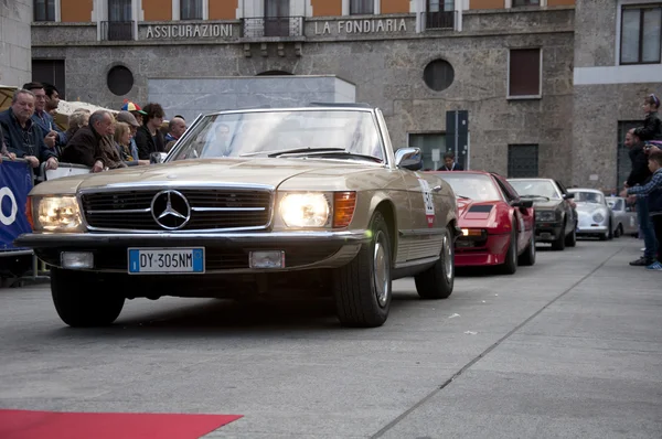
[[[259,229],[269,225],[271,192],[242,189],[172,189],[93,192],[81,196],[96,231]]]

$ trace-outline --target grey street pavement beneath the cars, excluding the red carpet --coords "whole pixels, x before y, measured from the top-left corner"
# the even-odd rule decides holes
[[[0,289],[0,408],[232,414],[205,438],[662,438],[662,274],[641,242],[538,248],[448,300],[398,280],[378,329],[332,303],[127,302],[71,329],[47,286]]]

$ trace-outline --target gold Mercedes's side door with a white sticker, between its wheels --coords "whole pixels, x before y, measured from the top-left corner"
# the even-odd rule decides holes
[[[412,228],[402,231],[407,237],[408,260],[439,256],[442,231],[449,210],[447,201],[453,197],[448,184],[434,173],[402,171],[409,199]]]

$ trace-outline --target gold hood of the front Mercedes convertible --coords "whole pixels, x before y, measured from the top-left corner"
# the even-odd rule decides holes
[[[285,181],[300,174],[337,179],[376,170],[370,164],[330,160],[292,159],[201,159],[182,160],[149,167],[132,167],[96,174],[73,175],[39,184],[33,195],[49,193],[75,193],[97,188],[137,189],[146,185],[233,184],[278,188]]]

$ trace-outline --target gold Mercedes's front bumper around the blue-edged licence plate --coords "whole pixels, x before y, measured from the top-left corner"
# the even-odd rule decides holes
[[[259,232],[209,234],[24,234],[14,245],[34,249],[46,264],[61,267],[62,251],[90,251],[88,271],[128,272],[129,247],[204,247],[205,274],[274,272],[337,268],[349,264],[370,242],[367,231]],[[285,268],[254,269],[250,251],[282,250]]]

